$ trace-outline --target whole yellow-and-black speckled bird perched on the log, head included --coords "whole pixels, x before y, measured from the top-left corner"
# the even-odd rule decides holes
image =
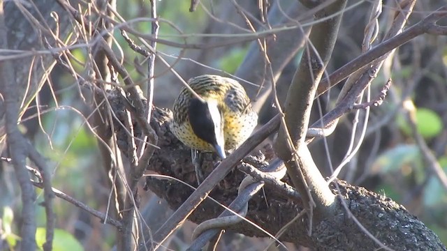
[[[239,82],[228,77],[201,75],[189,79],[189,86],[203,100],[198,101],[196,96],[184,87],[174,102],[174,117],[170,124],[171,131],[186,146],[199,151],[219,153],[219,132],[224,142],[222,148],[226,151],[237,148],[251,135],[258,122],[258,115],[251,108],[247,93]],[[195,105],[200,109],[194,108]],[[213,108],[216,106],[217,109]],[[203,118],[206,114],[209,114],[208,119]],[[190,119],[193,121],[190,122]],[[208,126],[209,130],[203,129],[205,126]],[[216,144],[210,143],[213,138],[208,134],[213,133],[215,135],[212,137],[217,138]],[[204,140],[208,139],[208,136],[210,140]],[[222,156],[220,153],[219,155]]]

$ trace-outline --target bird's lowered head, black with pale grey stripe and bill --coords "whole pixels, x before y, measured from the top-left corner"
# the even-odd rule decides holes
[[[210,143],[222,159],[226,158],[223,119],[217,100],[192,98],[189,102],[188,116],[191,128],[197,137]]]

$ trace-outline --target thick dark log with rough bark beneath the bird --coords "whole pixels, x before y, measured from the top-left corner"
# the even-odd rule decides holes
[[[124,102],[117,96],[110,97],[112,107],[119,118],[120,112],[124,112]],[[196,185],[190,150],[170,132],[168,126],[170,116],[168,109],[154,108],[151,126],[159,136],[160,149],[155,151],[147,170],[173,176],[191,185]],[[115,128],[120,128],[118,123]],[[138,133],[138,130],[135,132]],[[118,130],[117,135],[119,147],[126,149],[125,130]],[[214,155],[205,157],[203,163],[205,175],[209,174],[216,165],[215,158],[217,157]],[[214,188],[210,196],[222,204],[229,205],[237,195],[237,188],[242,178],[244,178],[244,174],[234,170]],[[341,204],[344,201],[352,215],[381,243],[393,250],[446,250],[433,231],[395,201],[365,190],[365,188],[350,185],[345,181],[338,180],[337,184],[339,190],[335,183],[330,186],[332,192],[339,195],[337,196],[339,206],[336,207],[339,209],[332,218],[322,220],[314,225],[312,236],[307,235],[307,218],[300,218],[298,222],[291,225],[280,240],[305,245],[315,250],[374,250],[379,248],[379,245],[374,243],[356,225],[350,214],[344,210]],[[150,176],[147,178],[147,188],[168,201],[170,208],[174,210],[193,191],[182,183]],[[258,195],[249,202],[247,218],[272,234],[279,231],[302,211],[302,205],[287,199],[275,190],[266,189],[265,196],[264,198],[263,195]],[[217,217],[221,211],[223,208],[207,199],[194,211],[189,220],[200,223]],[[265,237],[265,234],[246,222],[228,230],[247,236]]]

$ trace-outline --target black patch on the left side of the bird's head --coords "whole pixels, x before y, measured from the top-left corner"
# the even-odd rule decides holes
[[[192,98],[189,102],[188,116],[191,128],[197,137],[212,145],[217,143],[214,123],[206,102]]]

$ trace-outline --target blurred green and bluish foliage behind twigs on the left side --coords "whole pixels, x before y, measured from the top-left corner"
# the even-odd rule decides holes
[[[58,99],[59,105],[76,107],[78,104],[73,101],[75,98],[73,92],[61,93]],[[85,119],[71,109],[61,108],[43,114],[42,122],[46,134],[39,133],[34,145],[47,158],[52,173],[52,185],[92,208],[98,208],[101,201],[91,196],[91,188],[95,182],[94,174],[97,172],[95,169],[101,167],[101,159],[98,158],[96,138],[86,126]],[[43,191],[37,189],[36,192],[38,200],[43,201]],[[54,199],[53,204],[57,227],[75,229],[75,225],[78,224],[73,222],[77,220],[73,216],[78,214],[78,208],[59,198]],[[38,206],[36,213],[38,225],[45,226],[45,208]],[[75,240],[72,234],[61,230],[56,234],[54,250],[57,250],[59,244],[59,250],[82,250],[76,245],[70,245],[70,248],[67,246],[64,248],[62,245],[70,241],[70,238]]]

